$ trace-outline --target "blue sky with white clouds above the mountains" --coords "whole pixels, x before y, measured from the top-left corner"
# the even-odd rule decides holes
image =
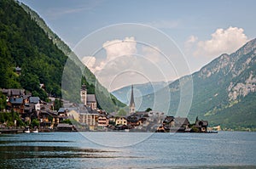
[[[109,91],[173,81],[256,37],[256,1],[20,0]]]

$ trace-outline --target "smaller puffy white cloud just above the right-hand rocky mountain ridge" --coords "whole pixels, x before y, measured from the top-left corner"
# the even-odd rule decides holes
[[[217,29],[212,33],[212,38],[207,41],[196,43],[194,56],[217,57],[220,54],[231,54],[248,41],[242,28],[229,27],[228,29]],[[187,42],[196,42],[197,38],[191,36]]]

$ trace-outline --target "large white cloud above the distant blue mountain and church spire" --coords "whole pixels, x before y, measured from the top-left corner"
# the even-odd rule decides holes
[[[106,53],[104,58],[102,55],[100,58],[85,56],[81,60],[109,91],[129,84],[166,79],[163,72],[166,58],[157,47],[136,42],[134,37],[125,37],[124,40],[104,42],[102,48]]]

